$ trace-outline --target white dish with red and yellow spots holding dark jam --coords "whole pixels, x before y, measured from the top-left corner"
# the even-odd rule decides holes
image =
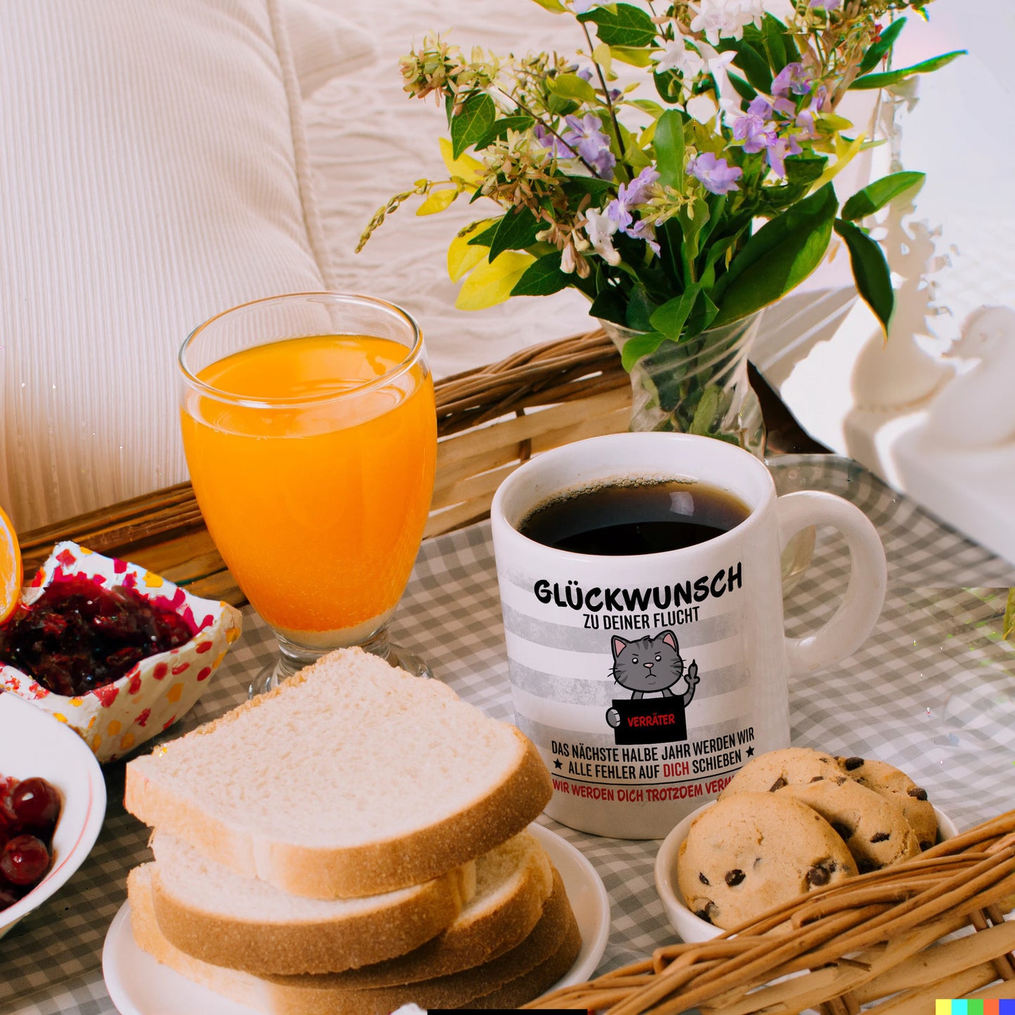
[[[11,666],[0,667],[0,688],[27,698],[75,730],[99,761],[113,761],[184,716],[208,686],[228,647],[240,636],[240,611],[201,599],[137,564],[104,557],[76,543],[57,543],[22,601],[31,602],[55,577],[85,577],[128,586],[160,609],[172,609],[197,633],[186,645],[142,659],[105,687],[67,697]]]

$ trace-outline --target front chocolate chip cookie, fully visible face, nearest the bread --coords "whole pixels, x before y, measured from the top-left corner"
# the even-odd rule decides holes
[[[828,822],[785,793],[724,795],[694,820],[677,856],[685,903],[724,930],[856,873]]]

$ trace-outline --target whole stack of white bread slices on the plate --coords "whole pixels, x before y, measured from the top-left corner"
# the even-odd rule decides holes
[[[526,830],[550,793],[514,726],[331,653],[127,765],[155,829],[128,879],[135,940],[275,1015],[518,1007],[581,948]]]

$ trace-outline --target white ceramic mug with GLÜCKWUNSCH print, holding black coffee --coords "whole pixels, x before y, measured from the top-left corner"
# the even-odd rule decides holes
[[[561,494],[631,479],[707,484],[748,514],[705,542],[634,556],[519,531]],[[858,507],[829,493],[776,497],[763,463],[712,437],[618,433],[545,452],[501,483],[491,518],[516,722],[553,776],[546,813],[598,835],[666,835],[749,757],[789,746],[788,678],[854,653],[884,601],[884,549]],[[850,581],[824,626],[788,638],[780,552],[813,525],[844,536]],[[652,672],[657,656],[681,676],[629,689],[631,666]]]

